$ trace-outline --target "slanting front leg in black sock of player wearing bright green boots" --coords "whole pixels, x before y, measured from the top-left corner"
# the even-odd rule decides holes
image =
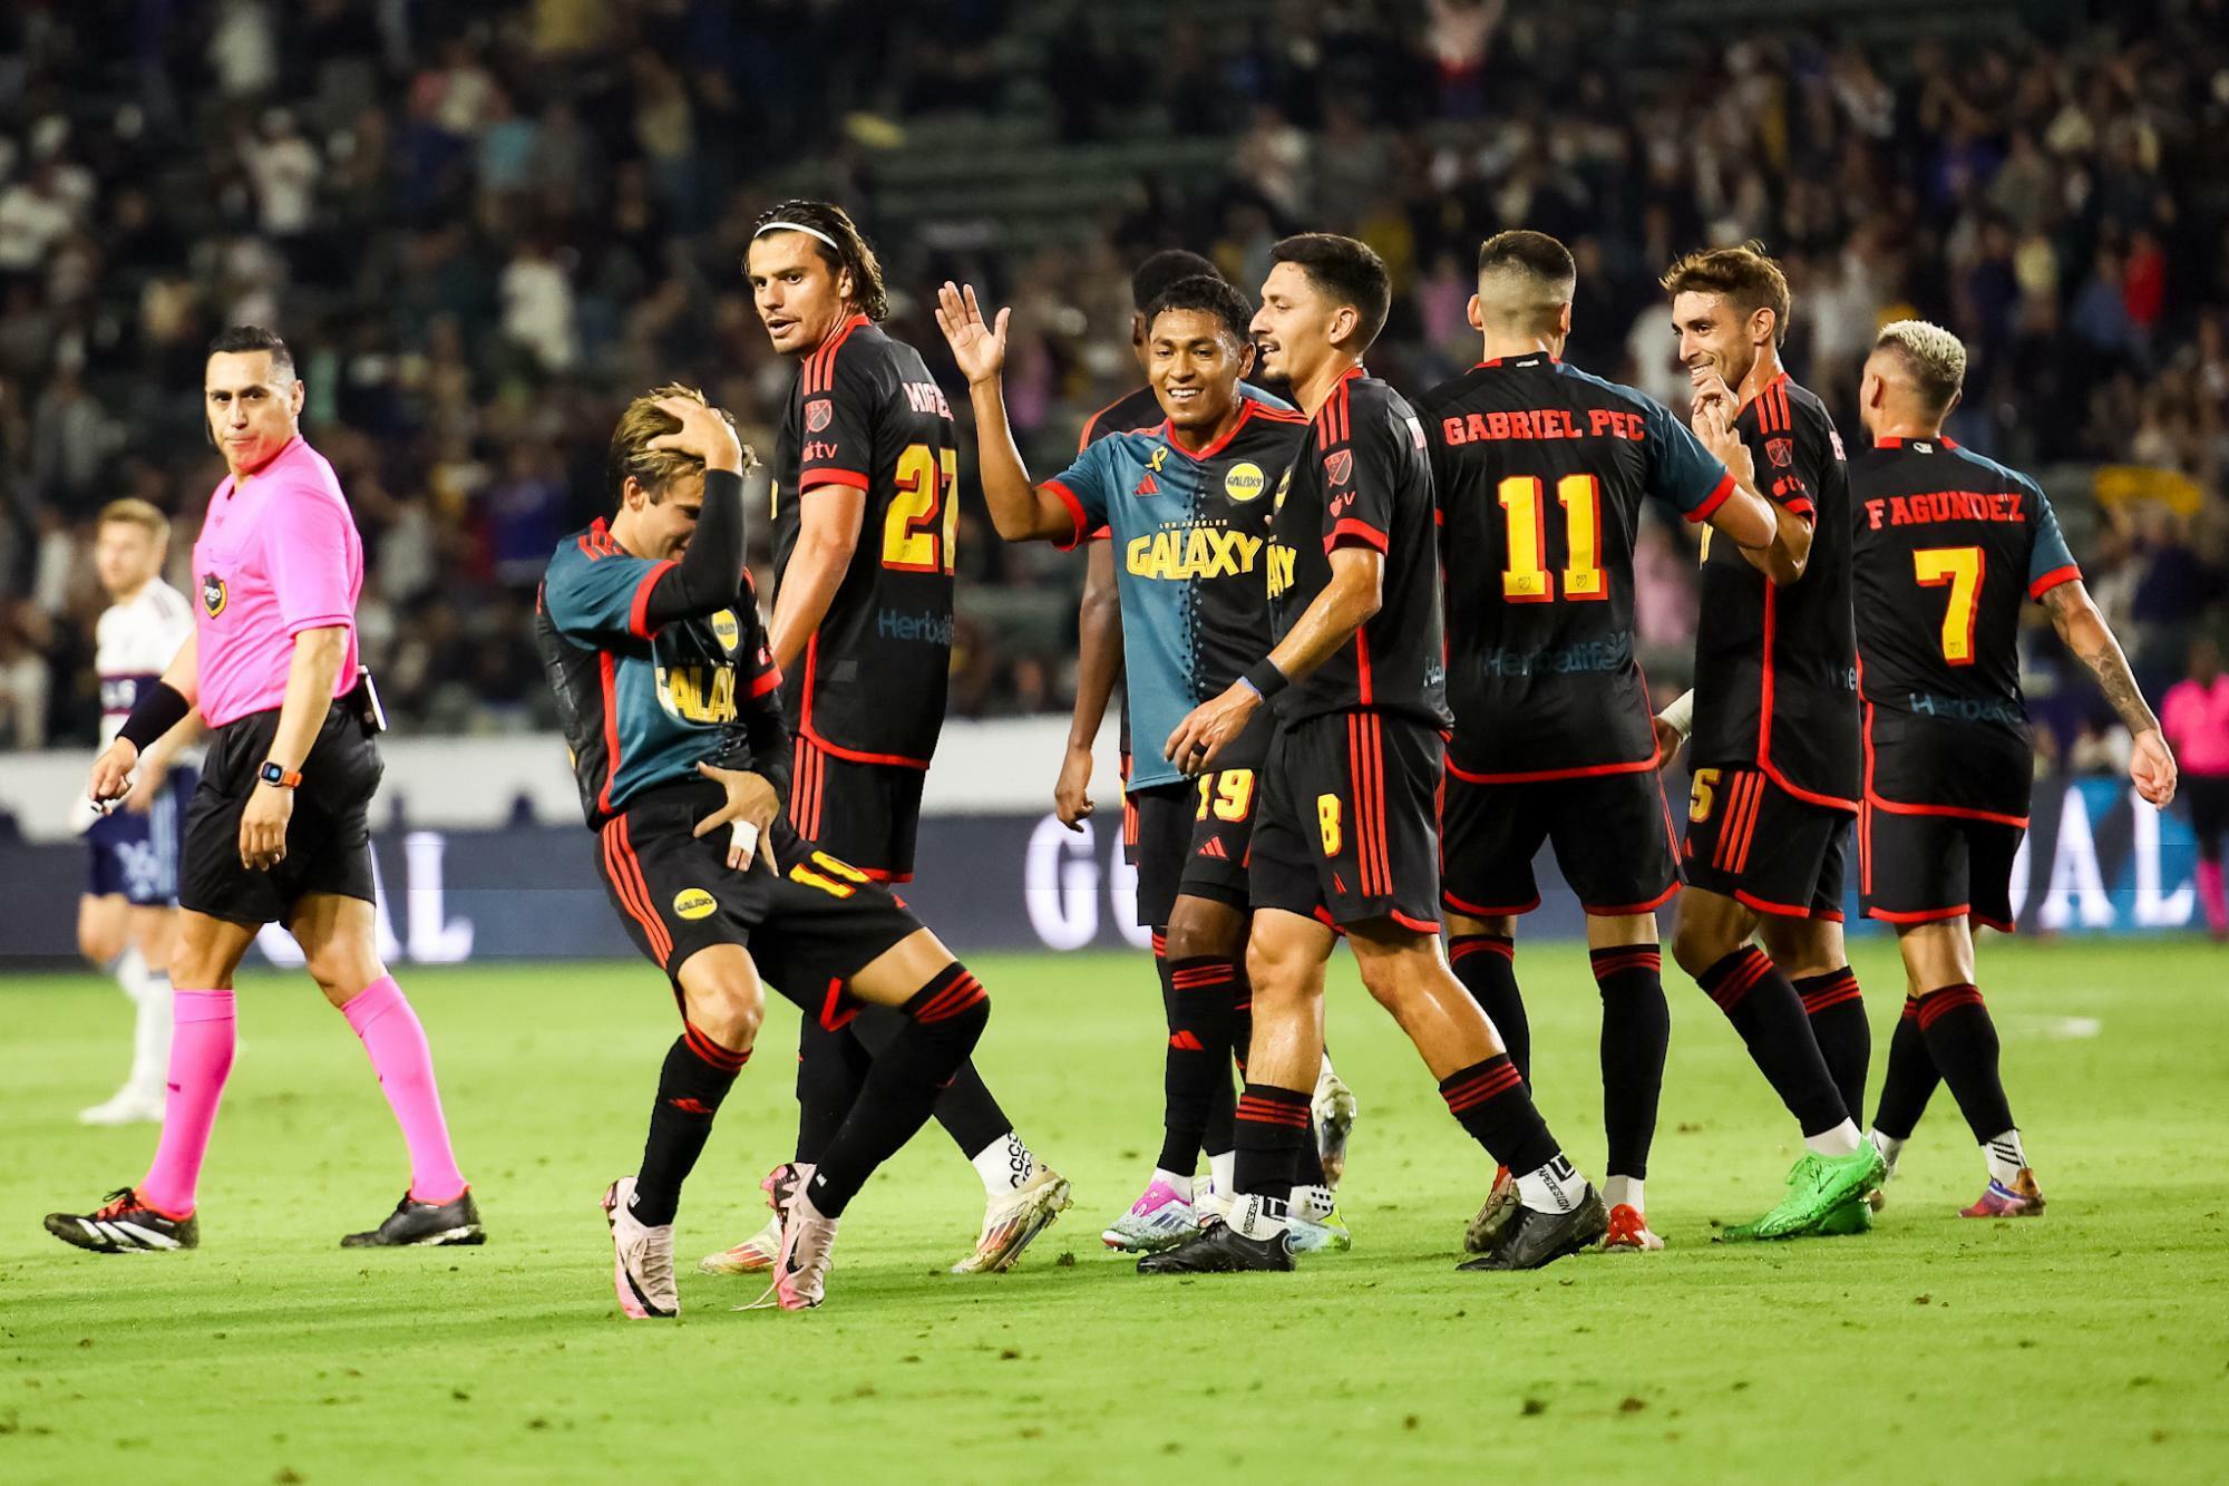
[[[1732,897],[1687,886],[1672,930],[1672,957],[1734,1024],[1750,1060],[1803,1131],[1805,1156],[1788,1176],[1783,1203],[1756,1223],[1730,1229],[1730,1238],[1817,1232],[1852,1194],[1877,1187],[1884,1169],[1834,1087],[1803,1000],[1772,957],[1750,944],[1756,919]]]

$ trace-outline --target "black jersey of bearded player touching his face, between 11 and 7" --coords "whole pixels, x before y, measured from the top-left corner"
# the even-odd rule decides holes
[[[1857,810],[1850,484],[1826,404],[1774,377],[1734,417],[1756,484],[1812,522],[1803,578],[1774,587],[1732,542],[1703,540],[1694,636],[1698,768],[1754,763],[1797,799]]]

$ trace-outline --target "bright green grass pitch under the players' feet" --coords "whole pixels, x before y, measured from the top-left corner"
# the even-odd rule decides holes
[[[1542,1100],[1600,1169],[1596,993],[1529,946]],[[2229,959],[2198,944],[1984,946],[2006,1069],[2051,1194],[1962,1223],[1982,1165],[1939,1096],[1868,1238],[1719,1247],[1794,1158],[1788,1118],[1674,973],[1649,1178],[1656,1256],[1456,1274],[1482,1158],[1353,971],[1331,1038],[1362,1098],[1355,1252],[1293,1276],[1143,1281],[1097,1229],[1157,1145],[1143,957],[1008,957],[983,1051],[1079,1207],[1021,1272],[956,1278],[981,1194],[929,1131],[854,1205],[829,1303],[626,1323],[595,1198],[633,1167],[673,1035],[637,964],[406,975],[493,1229],[484,1249],[357,1254],[403,1185],[345,1024],[305,982],[243,984],[243,1053],[185,1256],[100,1258],[38,1227],[134,1180],[147,1129],[89,1131],[127,1038],[94,977],[0,982],[0,1479],[2218,1479],[2229,1261]],[[1879,1064],[1892,951],[1859,973]],[[2069,1035],[2064,1017],[2095,1017]],[[787,1011],[729,1100],[682,1252],[762,1220],[791,1136]]]

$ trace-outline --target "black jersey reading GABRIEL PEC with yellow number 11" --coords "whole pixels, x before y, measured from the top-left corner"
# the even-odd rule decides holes
[[[1447,571],[1449,768],[1482,783],[1656,765],[1634,663],[1641,502],[1707,520],[1734,477],[1663,404],[1547,353],[1418,399]]]

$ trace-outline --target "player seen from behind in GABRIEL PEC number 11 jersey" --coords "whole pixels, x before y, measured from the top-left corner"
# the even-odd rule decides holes
[[[1482,357],[1415,404],[1451,573],[1440,901],[1449,964],[1531,1084],[1516,928],[1540,906],[1531,859],[1554,841],[1603,993],[1603,1247],[1661,1249],[1643,1180],[1672,1038],[1656,908],[1678,861],[1634,663],[1634,538],[1649,495],[1754,551],[1774,520],[1727,411],[1705,408],[1705,448],[1663,404],[1558,359],[1576,283],[1554,237],[1489,237],[1469,306]],[[1464,1247],[1491,1249],[1513,1216],[1502,1169]]]

